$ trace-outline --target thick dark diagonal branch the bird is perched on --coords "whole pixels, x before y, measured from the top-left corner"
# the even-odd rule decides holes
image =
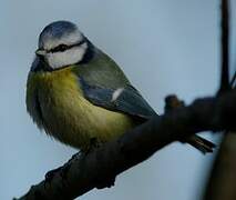
[[[197,99],[126,132],[82,157],[74,157],[49,180],[31,187],[21,200],[73,199],[113,183],[121,172],[146,160],[173,141],[201,131],[236,130],[236,90]]]

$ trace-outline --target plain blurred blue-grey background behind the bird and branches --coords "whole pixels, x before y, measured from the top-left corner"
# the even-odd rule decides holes
[[[189,103],[216,91],[218,9],[218,0],[0,1],[0,199],[23,194],[76,152],[40,132],[25,111],[27,74],[44,26],[75,22],[162,113],[170,93]],[[197,200],[213,159],[175,142],[119,176],[115,187],[80,199]]]

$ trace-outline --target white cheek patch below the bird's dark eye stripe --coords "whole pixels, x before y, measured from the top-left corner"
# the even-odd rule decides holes
[[[45,58],[49,66],[53,69],[57,69],[80,62],[86,52],[86,48],[88,44],[83,43],[80,47],[74,47],[62,52],[47,53]]]

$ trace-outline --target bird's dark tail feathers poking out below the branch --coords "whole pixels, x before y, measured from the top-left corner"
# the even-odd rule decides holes
[[[213,152],[213,149],[216,147],[215,143],[194,134],[187,138],[187,143],[193,146],[194,148],[198,149],[202,153]]]

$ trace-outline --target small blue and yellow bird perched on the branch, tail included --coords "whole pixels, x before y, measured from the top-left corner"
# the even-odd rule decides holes
[[[88,152],[157,113],[106,53],[70,21],[54,21],[39,36],[27,80],[27,110],[39,129]],[[212,152],[199,136],[186,142]]]

